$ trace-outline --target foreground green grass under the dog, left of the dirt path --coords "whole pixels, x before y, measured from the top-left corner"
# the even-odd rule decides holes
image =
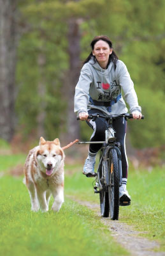
[[[68,198],[59,213],[31,212],[22,178],[10,176],[1,178],[0,197],[1,255],[128,255],[94,212]]]

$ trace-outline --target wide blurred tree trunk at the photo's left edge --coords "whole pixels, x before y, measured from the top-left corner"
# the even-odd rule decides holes
[[[10,141],[15,127],[17,0],[0,0],[0,137]]]

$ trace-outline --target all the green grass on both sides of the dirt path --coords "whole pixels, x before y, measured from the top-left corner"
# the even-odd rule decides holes
[[[23,164],[25,156],[0,156],[0,170]],[[66,165],[65,194],[99,204],[92,181],[82,175],[80,164]],[[129,172],[127,189],[130,207],[120,207],[119,218],[141,236],[159,241],[164,250],[164,170]],[[22,177],[4,176],[0,180],[1,255],[128,255],[110,236],[95,213],[66,198],[59,213],[31,212]],[[51,202],[52,203],[52,202]]]

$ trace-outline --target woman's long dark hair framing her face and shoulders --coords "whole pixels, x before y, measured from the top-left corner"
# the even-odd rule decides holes
[[[94,45],[99,41],[99,40],[103,40],[104,42],[106,42],[110,48],[112,49],[112,52],[109,56],[109,60],[108,60],[108,65],[110,64],[110,62],[112,61],[114,64],[115,69],[117,68],[117,54],[115,53],[115,51],[113,51],[113,47],[112,47],[112,42],[110,40],[110,38],[108,38],[108,36],[95,36],[94,39],[92,40],[92,42],[90,43],[90,46],[92,47],[92,51],[94,50]],[[89,56],[87,57],[87,59],[85,61],[83,61],[83,65],[87,62],[89,62],[89,60],[91,58],[94,58],[94,61],[96,62],[96,57],[93,56],[92,52],[90,52]],[[108,67],[107,65],[107,67]]]

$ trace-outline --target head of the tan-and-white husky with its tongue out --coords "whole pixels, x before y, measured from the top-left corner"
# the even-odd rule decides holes
[[[59,139],[46,141],[43,137],[40,138],[39,147],[36,151],[36,161],[41,172],[48,176],[54,175],[64,157],[64,151],[60,146]]]

